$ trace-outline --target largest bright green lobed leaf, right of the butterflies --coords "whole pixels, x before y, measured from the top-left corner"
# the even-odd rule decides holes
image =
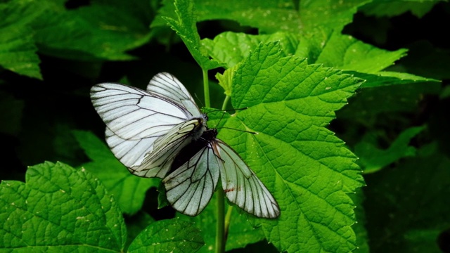
[[[258,46],[233,78],[234,108],[220,131],[281,207],[278,219],[250,221],[288,252],[350,252],[354,205],[346,193],[363,185],[356,157],[325,128],[361,84],[348,74],[283,57],[278,43]],[[229,71],[229,70],[227,70]]]

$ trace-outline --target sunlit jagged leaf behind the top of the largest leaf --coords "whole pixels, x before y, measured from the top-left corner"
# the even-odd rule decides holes
[[[305,34],[302,35],[301,43],[299,44],[297,36],[283,32],[270,35],[224,32],[217,35],[213,40],[203,39],[202,43],[214,60],[225,63],[228,68],[240,63],[259,43],[280,41],[284,56],[295,55],[309,58],[309,62],[326,63],[328,67],[349,69],[345,73],[366,79],[361,88],[411,84],[414,82],[439,82],[436,79],[418,77],[408,73],[379,72],[385,67],[392,65],[394,60],[403,56],[404,50],[389,52],[340,34],[328,36],[328,34],[319,31],[315,34],[317,36],[312,36],[312,34],[310,34],[311,37]],[[319,36],[320,34],[322,34],[322,37]],[[319,44],[324,46],[319,46]],[[333,46],[338,46],[339,50],[336,51],[336,48],[333,48]],[[373,62],[378,63],[378,65],[373,64]],[[225,74],[217,75],[219,84],[221,84],[228,96],[231,95],[231,82],[227,82],[227,80],[231,78],[232,73],[233,71],[229,72],[227,76]]]

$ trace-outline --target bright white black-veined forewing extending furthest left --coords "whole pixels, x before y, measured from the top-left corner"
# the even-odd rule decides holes
[[[123,84],[97,84],[91,88],[91,100],[108,129],[126,141],[154,140],[151,137],[166,134],[192,116],[164,96]]]

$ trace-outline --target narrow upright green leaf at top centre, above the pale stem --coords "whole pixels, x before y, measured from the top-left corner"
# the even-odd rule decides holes
[[[165,17],[164,19],[172,27],[186,44],[189,52],[203,70],[212,70],[220,66],[215,60],[207,57],[205,49],[200,44],[200,36],[197,32],[194,4],[191,0],[175,1],[176,20]]]

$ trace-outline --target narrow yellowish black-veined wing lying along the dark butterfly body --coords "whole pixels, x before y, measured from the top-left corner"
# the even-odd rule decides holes
[[[136,176],[164,178],[176,155],[193,141],[196,131],[203,131],[200,119],[191,119],[174,126],[155,140],[153,149],[146,153],[141,162],[129,167],[129,171]]]

